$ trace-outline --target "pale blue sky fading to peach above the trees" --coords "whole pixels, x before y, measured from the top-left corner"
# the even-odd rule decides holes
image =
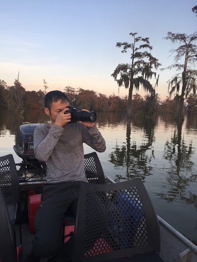
[[[0,79],[11,86],[20,72],[26,90],[44,90],[45,79],[47,91],[71,86],[123,97],[129,90],[118,93],[111,74],[130,62],[131,53],[122,54],[116,42],[131,43],[130,32],[149,37],[152,55],[166,67],[175,46],[163,37],[197,31],[195,5],[197,0],[1,0]],[[164,99],[174,72],[157,73],[156,92]]]

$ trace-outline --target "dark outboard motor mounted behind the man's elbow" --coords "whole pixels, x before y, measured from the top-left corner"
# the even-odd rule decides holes
[[[31,123],[20,125],[16,133],[16,145],[13,146],[16,154],[23,159],[20,165],[20,171],[31,170],[35,171],[39,169],[46,174],[46,163],[39,162],[34,155],[33,150],[33,133],[40,123]]]

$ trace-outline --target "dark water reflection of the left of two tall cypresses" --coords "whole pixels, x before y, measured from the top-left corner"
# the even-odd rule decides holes
[[[119,146],[116,142],[114,151],[110,154],[110,162],[114,164],[115,168],[127,167],[126,175],[116,175],[116,182],[134,177],[140,177],[144,181],[145,177],[150,175],[151,160],[154,158],[154,147],[152,146],[155,141],[154,128],[157,120],[158,118],[127,119],[126,146]],[[144,132],[141,144],[137,145],[136,140],[131,140],[131,123]]]

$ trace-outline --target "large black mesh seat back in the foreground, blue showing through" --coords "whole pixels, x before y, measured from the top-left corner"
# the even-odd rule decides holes
[[[82,183],[74,238],[74,262],[160,252],[157,215],[142,181]]]

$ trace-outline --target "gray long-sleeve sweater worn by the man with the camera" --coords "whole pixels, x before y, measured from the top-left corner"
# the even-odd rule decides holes
[[[50,127],[49,123],[36,127],[34,153],[40,162],[47,164],[47,183],[86,179],[83,143],[98,152],[106,148],[96,125],[90,129],[79,122],[64,127],[56,124]]]

